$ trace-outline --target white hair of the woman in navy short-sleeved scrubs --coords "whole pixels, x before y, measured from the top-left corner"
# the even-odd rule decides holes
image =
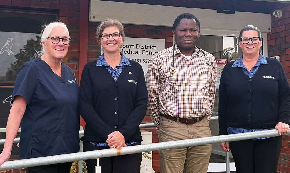
[[[44,24],[42,25],[43,30],[41,31],[41,40],[40,40],[40,45],[42,46],[42,50],[38,51],[34,56],[35,57],[39,57],[42,56],[45,52],[45,48],[42,45],[42,41],[46,42],[47,37],[49,36],[49,34],[51,33],[52,29],[56,26],[60,26],[63,27],[66,32],[68,33],[68,38],[70,38],[70,33],[68,32],[68,28],[66,27],[66,24],[62,23],[62,22],[52,22],[49,24]]]

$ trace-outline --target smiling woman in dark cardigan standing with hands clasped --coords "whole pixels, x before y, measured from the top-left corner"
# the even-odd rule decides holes
[[[139,124],[148,102],[143,69],[120,53],[125,34],[118,20],[101,22],[96,37],[104,54],[84,66],[79,91],[79,112],[86,122],[84,151],[140,145]],[[106,157],[100,166],[102,173],[139,173],[141,160],[141,153]],[[95,172],[96,160],[86,163]]]

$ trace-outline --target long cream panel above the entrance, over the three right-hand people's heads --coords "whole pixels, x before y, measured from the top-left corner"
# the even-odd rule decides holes
[[[122,23],[172,26],[181,13],[192,13],[201,23],[202,29],[240,31],[246,25],[255,25],[261,32],[271,32],[271,14],[235,12],[217,13],[217,10],[147,5],[136,3],[90,1],[89,21],[100,22],[107,18]]]

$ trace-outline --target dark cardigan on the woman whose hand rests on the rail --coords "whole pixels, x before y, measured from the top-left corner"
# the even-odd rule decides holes
[[[281,63],[266,58],[253,78],[242,68],[228,63],[219,87],[219,135],[227,126],[244,129],[275,128],[278,122],[290,124],[290,89]]]

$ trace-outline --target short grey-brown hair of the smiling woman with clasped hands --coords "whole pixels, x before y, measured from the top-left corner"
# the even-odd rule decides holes
[[[110,27],[110,26],[116,26],[119,29],[119,32],[123,38],[123,41],[125,41],[125,32],[124,32],[124,25],[117,19],[106,19],[104,21],[102,21],[99,26],[97,27],[96,30],[96,39],[99,43],[101,43],[101,34],[104,31],[104,29],[106,27]]]

